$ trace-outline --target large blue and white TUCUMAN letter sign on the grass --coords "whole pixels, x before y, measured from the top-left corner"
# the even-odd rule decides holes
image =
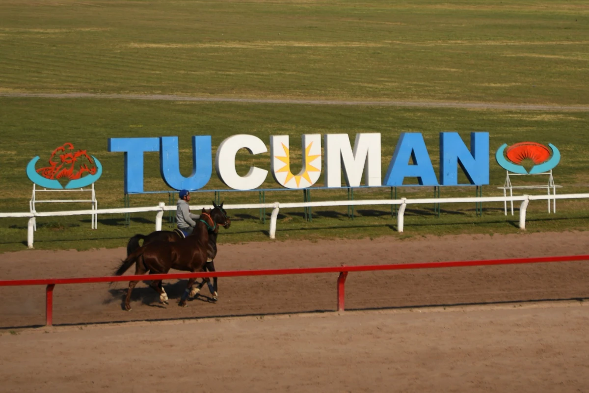
[[[459,185],[458,166],[471,185],[489,184],[489,134],[471,132],[470,149],[457,132],[439,134],[439,181],[428,149],[420,133],[404,132],[396,145],[384,178],[381,174],[380,134],[357,134],[352,147],[347,134],[323,135],[325,157],[322,157],[320,134],[302,136],[302,170],[290,171],[288,135],[270,136],[269,167],[276,182],[286,188],[304,189],[316,184],[324,172],[325,186],[401,186],[405,178],[415,178],[415,185]],[[246,175],[236,171],[236,154],[246,149],[250,154],[268,151],[262,139],[254,135],[233,135],[217,148],[214,161],[217,176],[224,184],[237,190],[260,188],[268,170],[252,166]],[[110,138],[108,151],[124,152],[125,193],[143,192],[145,152],[159,152],[161,176],[173,189],[201,189],[213,173],[210,135],[192,137],[193,172],[180,174],[177,136],[159,138]],[[325,168],[322,169],[322,164]]]

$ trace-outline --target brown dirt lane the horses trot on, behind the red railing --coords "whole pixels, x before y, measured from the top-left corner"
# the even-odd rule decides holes
[[[589,232],[261,242],[221,245],[215,264],[221,271],[541,257],[589,254],[588,245]],[[124,256],[123,248],[5,253],[0,279],[112,275]],[[346,309],[589,298],[587,277],[589,262],[351,273]],[[122,310],[126,282],[58,285],[54,324],[333,311],[336,280],[337,274],[221,278],[217,304],[198,297],[187,308],[177,306],[186,280],[164,282],[167,307],[140,283],[131,312]],[[0,297],[0,328],[44,324],[43,287],[4,287]]]

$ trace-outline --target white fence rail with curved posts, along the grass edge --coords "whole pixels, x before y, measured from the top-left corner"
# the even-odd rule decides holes
[[[405,224],[405,208],[407,205],[419,204],[444,204],[444,203],[468,203],[468,202],[510,202],[520,201],[519,205],[519,228],[525,229],[525,215],[530,201],[546,200],[546,199],[580,199],[589,198],[589,194],[561,194],[561,195],[518,195],[518,196],[481,196],[468,198],[422,198],[422,199],[376,199],[368,201],[321,201],[321,202],[292,202],[280,203],[274,202],[269,204],[242,204],[242,205],[224,205],[223,208],[227,210],[234,209],[272,209],[270,216],[270,238],[276,237],[276,218],[280,209],[285,208],[302,208],[302,207],[334,207],[334,206],[362,206],[362,205],[399,205],[397,212],[397,231],[403,232]],[[198,211],[203,208],[211,209],[211,205],[194,205],[190,207],[193,211]],[[155,211],[155,230],[161,231],[161,221],[164,211],[176,210],[176,206],[166,206],[164,202],[160,202],[158,206],[140,207],[140,208],[114,208],[114,209],[88,209],[88,210],[74,210],[74,211],[59,211],[59,212],[22,212],[22,213],[0,213],[0,218],[3,217],[28,217],[28,235],[27,244],[29,248],[33,248],[35,218],[37,217],[58,217],[70,215],[96,215],[96,214],[124,214],[124,213],[138,213]]]

